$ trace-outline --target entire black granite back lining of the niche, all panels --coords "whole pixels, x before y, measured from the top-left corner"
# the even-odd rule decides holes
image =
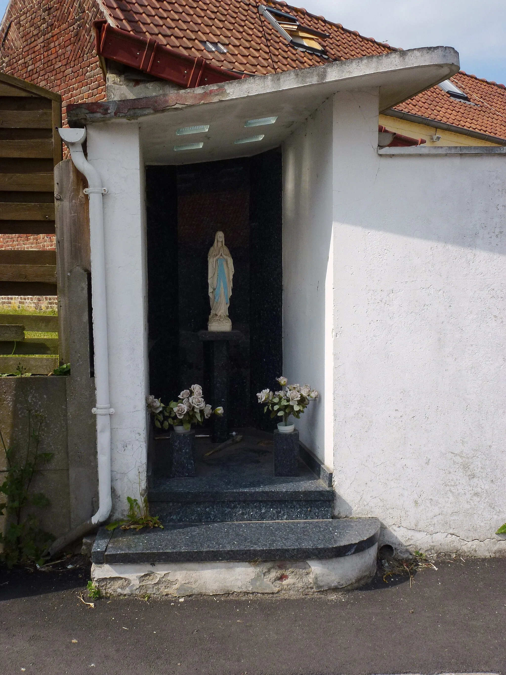
[[[150,392],[168,403],[204,382],[210,311],[207,253],[223,230],[235,273],[229,315],[229,425],[273,429],[256,392],[281,374],[281,151],[180,167],[147,167]],[[204,391],[204,397],[206,391]]]

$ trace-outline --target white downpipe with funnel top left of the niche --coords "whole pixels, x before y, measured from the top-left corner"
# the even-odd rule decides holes
[[[99,524],[109,517],[111,502],[111,414],[109,402],[109,357],[107,354],[107,301],[105,297],[105,247],[103,194],[99,172],[88,162],[82,151],[86,129],[59,129],[61,139],[70,151],[76,169],[88,180],[84,190],[90,200],[90,248],[92,279],[93,344],[95,365],[96,448],[99,467],[99,510],[91,522]]]

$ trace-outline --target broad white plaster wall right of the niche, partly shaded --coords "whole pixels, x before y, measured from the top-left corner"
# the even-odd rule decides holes
[[[378,157],[374,105],[339,97],[337,514],[413,548],[506,553],[506,158]]]

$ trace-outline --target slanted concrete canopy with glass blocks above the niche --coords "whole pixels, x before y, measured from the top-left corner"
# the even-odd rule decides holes
[[[258,76],[146,97],[67,107],[71,126],[137,119],[147,164],[186,164],[256,155],[279,146],[331,94],[378,88],[380,111],[413,97],[459,70],[452,47],[426,47],[337,61],[304,70]],[[275,124],[245,128],[248,119]],[[209,125],[208,132],[176,135],[178,128]],[[235,140],[264,134],[257,142]],[[203,142],[200,149],[175,145]]]

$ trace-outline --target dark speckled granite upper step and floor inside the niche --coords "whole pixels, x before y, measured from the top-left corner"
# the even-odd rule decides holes
[[[272,434],[242,431],[243,441],[222,452],[196,439],[197,475],[164,476],[167,439],[159,439],[157,468],[148,488],[150,511],[163,523],[332,518],[332,474],[301,447],[299,475],[273,475]],[[167,469],[167,467],[165,467]]]

